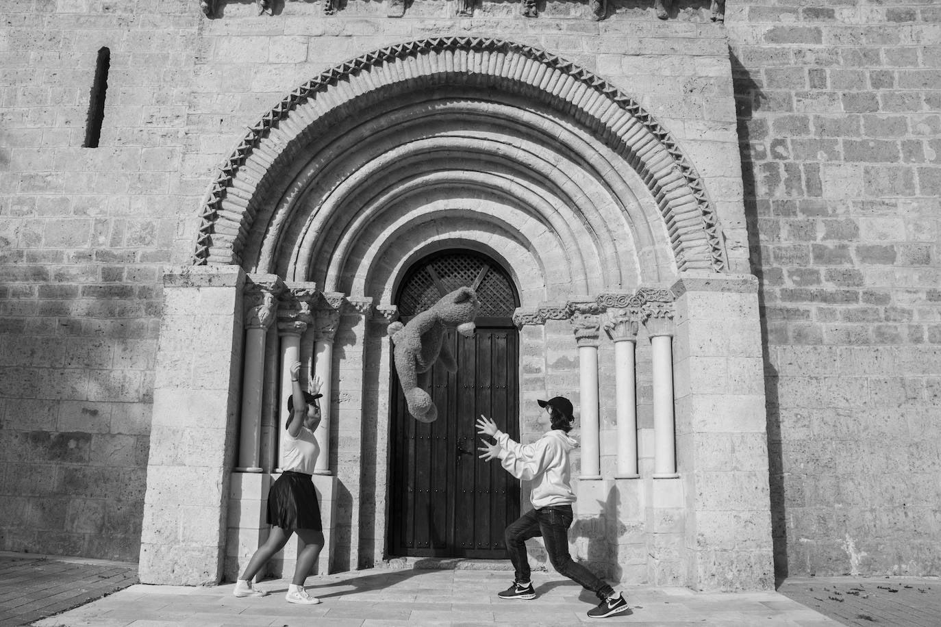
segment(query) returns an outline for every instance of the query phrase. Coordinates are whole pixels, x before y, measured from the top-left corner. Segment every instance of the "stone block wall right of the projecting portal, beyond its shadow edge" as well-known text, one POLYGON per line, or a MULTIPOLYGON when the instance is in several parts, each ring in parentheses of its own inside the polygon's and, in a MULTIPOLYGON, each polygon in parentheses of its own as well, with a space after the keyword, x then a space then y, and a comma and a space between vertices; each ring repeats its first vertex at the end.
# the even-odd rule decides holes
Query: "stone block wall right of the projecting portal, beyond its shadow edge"
POLYGON ((941 7, 729 2, 775 562, 941 564, 941 7))

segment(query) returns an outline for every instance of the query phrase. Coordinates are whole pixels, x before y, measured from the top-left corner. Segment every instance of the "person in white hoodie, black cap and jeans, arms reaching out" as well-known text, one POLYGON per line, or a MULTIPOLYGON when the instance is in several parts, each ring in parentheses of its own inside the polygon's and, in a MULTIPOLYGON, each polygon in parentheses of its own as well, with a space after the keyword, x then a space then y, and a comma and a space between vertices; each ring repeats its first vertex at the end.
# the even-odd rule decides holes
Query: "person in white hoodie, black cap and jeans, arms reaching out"
POLYGON ((600 599, 598 607, 588 611, 590 618, 603 619, 623 614, 630 609, 624 597, 615 595, 614 588, 568 554, 568 527, 572 525, 572 503, 575 502, 568 452, 579 446, 577 440, 566 435, 571 431, 574 421, 572 403, 565 397, 538 402, 549 415, 551 430, 530 445, 514 442, 485 415, 477 420, 477 431, 497 441, 489 444, 481 438, 484 447, 479 450, 484 451, 484 454, 480 459, 489 462, 498 458, 511 475, 534 482, 531 496, 534 509, 506 527, 506 550, 516 570, 516 578, 513 585, 498 596, 501 599, 535 598, 525 541, 542 536, 552 567, 583 588, 593 591, 600 599))

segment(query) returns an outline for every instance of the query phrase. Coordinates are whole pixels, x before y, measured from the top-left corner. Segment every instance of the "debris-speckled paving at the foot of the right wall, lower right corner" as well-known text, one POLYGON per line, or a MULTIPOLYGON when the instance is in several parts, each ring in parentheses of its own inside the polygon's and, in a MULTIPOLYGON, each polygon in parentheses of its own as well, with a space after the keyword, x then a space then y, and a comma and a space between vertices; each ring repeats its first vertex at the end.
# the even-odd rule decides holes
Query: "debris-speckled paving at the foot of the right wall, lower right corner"
POLYGON ((790 577, 778 592, 844 625, 941 625, 937 578, 790 577))

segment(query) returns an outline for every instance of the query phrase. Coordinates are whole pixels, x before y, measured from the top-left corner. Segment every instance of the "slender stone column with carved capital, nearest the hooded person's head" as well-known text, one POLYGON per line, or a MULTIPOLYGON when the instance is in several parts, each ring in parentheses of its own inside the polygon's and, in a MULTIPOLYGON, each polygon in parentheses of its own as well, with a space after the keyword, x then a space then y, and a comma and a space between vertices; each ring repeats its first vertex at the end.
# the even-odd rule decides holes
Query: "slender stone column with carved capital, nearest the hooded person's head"
POLYGON ((581 307, 571 317, 579 347, 579 389, 582 410, 582 475, 580 479, 601 478, 598 442, 598 335, 601 328, 597 309, 581 307))

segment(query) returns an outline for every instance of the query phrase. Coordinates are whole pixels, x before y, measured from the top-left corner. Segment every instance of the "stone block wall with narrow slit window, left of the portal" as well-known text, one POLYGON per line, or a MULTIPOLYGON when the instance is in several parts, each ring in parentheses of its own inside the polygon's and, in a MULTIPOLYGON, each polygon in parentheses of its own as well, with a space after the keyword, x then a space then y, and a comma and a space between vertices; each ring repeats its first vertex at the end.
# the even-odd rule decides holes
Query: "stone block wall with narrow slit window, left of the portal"
MULTIPOLYGON (((0 549, 135 560, 196 18, 0 3, 0 549), (84 149, 98 51, 101 148, 84 149)), ((201 190, 200 190, 201 191, 201 190)))

